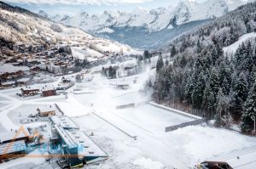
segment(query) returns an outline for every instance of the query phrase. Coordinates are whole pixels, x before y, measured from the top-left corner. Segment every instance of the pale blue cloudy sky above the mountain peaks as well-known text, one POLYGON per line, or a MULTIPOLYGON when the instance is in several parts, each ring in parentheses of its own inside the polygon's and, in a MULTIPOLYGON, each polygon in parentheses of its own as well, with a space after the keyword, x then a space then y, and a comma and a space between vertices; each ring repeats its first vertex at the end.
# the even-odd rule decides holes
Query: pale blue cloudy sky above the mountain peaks
MULTIPOLYGON (((48 14, 77 14, 85 11, 89 14, 100 14, 104 10, 132 11, 134 8, 158 8, 175 6, 180 0, 3 0, 38 13, 44 10, 48 14)), ((205 0, 190 0, 202 2, 205 0)))

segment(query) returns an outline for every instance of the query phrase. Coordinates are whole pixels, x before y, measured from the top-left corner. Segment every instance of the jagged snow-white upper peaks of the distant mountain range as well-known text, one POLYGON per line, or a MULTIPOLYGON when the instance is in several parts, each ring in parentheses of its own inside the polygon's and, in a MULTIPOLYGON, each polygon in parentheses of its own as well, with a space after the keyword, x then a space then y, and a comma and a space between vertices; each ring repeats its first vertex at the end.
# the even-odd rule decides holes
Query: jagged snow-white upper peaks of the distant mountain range
POLYGON ((103 14, 90 15, 86 12, 74 16, 56 15, 55 22, 74 25, 84 31, 109 32, 111 27, 136 26, 146 27, 148 31, 160 31, 195 20, 207 20, 227 14, 250 0, 207 0, 196 3, 192 0, 181 0, 176 7, 136 8, 131 13, 120 11, 105 11, 103 14), (106 29, 108 27, 108 29, 106 29))

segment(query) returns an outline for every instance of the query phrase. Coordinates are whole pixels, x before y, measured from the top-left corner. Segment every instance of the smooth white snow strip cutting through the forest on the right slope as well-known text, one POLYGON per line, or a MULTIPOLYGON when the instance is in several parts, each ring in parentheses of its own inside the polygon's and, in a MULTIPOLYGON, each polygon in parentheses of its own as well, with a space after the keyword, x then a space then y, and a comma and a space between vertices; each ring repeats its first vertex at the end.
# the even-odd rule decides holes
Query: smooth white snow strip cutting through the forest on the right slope
POLYGON ((256 37, 255 32, 247 33, 247 34, 242 35, 241 37, 239 37, 238 41, 234 42, 233 44, 231 44, 228 47, 224 47, 223 48, 224 53, 225 54, 235 54, 236 49, 239 47, 239 45, 241 45, 242 42, 251 41, 255 37, 256 37))

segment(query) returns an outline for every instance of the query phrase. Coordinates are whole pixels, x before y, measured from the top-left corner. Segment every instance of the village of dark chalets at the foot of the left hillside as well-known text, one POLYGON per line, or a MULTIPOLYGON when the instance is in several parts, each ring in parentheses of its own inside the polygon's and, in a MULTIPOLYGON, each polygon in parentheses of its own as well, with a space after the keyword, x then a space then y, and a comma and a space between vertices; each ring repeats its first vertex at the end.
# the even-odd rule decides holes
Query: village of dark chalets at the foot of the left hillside
POLYGON ((81 39, 44 45, 2 44, 0 87, 54 82, 55 76, 77 73, 111 60, 135 57, 134 54, 124 54, 122 50, 108 50, 107 47, 108 43, 96 38, 90 39, 90 42, 81 39))

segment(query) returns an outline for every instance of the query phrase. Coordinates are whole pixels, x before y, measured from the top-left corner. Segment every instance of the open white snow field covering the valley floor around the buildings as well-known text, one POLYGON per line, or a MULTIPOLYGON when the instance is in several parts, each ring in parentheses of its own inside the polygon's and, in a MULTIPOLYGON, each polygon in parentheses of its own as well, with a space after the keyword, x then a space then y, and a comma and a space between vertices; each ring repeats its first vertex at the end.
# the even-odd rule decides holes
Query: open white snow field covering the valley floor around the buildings
MULTIPOLYGON (((154 71, 148 70, 137 76, 117 80, 108 80, 100 74, 94 74, 91 82, 76 83, 74 87, 69 88, 67 98, 59 95, 18 99, 15 93, 20 91, 20 88, 2 90, 0 132, 19 128, 20 120, 35 114, 40 106, 58 104, 66 115, 73 117, 81 130, 87 134, 94 132, 93 139, 96 144, 108 153, 107 161, 103 161, 99 166, 92 165, 91 168, 187 169, 211 159, 230 161, 239 169, 252 169, 251 166, 256 165, 256 138, 206 124, 164 132, 165 127, 193 119, 144 103, 150 100, 150 93, 143 95, 140 89, 148 76, 153 74, 154 71), (136 83, 134 79, 137 79, 136 83), (129 84, 130 87, 123 90, 113 86, 119 83, 129 84), (73 89, 76 88, 94 93, 75 94, 73 89), (139 105, 123 110, 116 109, 118 105, 131 103, 139 105), (241 159, 237 160, 236 156, 241 159), (242 165, 248 161, 249 166, 242 165)), ((42 122, 38 121, 25 126, 40 125, 42 122)), ((20 158, 0 164, 0 168, 17 168, 17 165, 20 169, 34 166, 40 168, 46 167, 46 164, 44 159, 20 158)))

